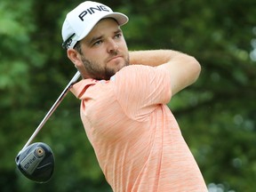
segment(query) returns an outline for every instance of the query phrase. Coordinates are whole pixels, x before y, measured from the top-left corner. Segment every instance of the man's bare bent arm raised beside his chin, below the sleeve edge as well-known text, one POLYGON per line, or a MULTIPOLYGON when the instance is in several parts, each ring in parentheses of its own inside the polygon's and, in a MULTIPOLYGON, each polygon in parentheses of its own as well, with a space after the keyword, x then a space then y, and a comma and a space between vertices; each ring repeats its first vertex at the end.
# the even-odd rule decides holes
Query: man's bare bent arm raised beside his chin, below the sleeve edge
POLYGON ((172 95, 196 82, 201 66, 188 54, 172 50, 134 51, 130 63, 163 68, 171 77, 172 95))

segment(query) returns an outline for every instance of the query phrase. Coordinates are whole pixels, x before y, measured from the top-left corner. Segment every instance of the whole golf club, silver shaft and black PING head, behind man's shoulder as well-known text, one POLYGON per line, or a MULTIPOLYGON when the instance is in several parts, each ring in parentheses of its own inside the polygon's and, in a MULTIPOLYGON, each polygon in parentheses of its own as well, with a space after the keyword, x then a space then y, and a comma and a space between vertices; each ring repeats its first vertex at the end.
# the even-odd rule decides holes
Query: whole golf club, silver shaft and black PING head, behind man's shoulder
POLYGON ((76 75, 73 76, 66 88, 61 92, 59 98, 52 105, 52 108, 50 108, 42 122, 37 126, 36 131, 31 135, 28 142, 15 158, 16 165, 20 172, 22 172, 29 180, 42 183, 50 180, 52 177, 52 172, 54 170, 54 156, 52 149, 43 142, 29 144, 35 139, 37 133, 40 132, 46 121, 52 116, 52 113, 67 95, 71 86, 76 83, 80 76, 80 72, 77 71, 76 75))

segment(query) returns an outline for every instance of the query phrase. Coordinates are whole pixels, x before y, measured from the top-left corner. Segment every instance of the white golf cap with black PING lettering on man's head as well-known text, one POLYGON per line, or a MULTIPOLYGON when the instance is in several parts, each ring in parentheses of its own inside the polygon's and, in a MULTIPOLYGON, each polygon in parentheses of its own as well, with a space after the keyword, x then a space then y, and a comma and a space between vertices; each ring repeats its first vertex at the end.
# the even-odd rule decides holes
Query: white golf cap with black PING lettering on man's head
POLYGON ((121 12, 113 12, 107 5, 85 1, 68 12, 62 26, 63 48, 73 48, 77 41, 87 36, 92 28, 103 18, 113 18, 119 26, 128 22, 128 17, 121 12))

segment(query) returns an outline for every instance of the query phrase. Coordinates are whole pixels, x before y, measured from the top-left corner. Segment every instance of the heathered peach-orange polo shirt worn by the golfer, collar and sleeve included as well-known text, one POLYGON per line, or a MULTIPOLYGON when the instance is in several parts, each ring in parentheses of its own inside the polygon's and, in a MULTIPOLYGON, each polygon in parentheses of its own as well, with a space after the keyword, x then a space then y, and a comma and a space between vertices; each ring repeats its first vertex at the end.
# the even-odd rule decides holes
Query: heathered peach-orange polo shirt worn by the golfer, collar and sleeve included
POLYGON ((84 79, 71 91, 106 180, 115 192, 204 192, 202 174, 166 104, 170 77, 131 65, 109 81, 84 79))

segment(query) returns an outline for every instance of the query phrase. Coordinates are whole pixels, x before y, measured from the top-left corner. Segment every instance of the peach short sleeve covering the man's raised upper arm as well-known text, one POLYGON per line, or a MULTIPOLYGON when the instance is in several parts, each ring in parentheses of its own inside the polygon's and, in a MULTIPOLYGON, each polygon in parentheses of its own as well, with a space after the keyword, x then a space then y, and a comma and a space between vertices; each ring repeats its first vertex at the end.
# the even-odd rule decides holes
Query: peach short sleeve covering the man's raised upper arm
POLYGON ((131 65, 122 68, 111 81, 124 113, 134 119, 147 118, 172 97, 170 76, 162 68, 131 65))

